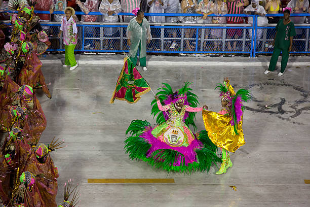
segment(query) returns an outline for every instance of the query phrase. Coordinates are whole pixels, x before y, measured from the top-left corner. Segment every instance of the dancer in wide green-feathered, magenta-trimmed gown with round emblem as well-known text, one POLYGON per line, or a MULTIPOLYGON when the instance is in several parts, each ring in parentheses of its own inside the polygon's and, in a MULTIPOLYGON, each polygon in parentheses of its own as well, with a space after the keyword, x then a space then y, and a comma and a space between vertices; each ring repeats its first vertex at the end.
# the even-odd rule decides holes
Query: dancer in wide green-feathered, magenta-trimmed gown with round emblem
POLYGON ((133 120, 126 131, 125 150, 130 159, 142 159, 149 165, 169 171, 209 171, 212 162, 220 162, 217 147, 209 140, 207 131, 192 133, 198 108, 197 95, 190 92, 189 83, 173 92, 171 86, 160 88, 151 103, 151 114, 157 116, 157 126, 133 120), (164 106, 163 106, 164 104, 164 106))

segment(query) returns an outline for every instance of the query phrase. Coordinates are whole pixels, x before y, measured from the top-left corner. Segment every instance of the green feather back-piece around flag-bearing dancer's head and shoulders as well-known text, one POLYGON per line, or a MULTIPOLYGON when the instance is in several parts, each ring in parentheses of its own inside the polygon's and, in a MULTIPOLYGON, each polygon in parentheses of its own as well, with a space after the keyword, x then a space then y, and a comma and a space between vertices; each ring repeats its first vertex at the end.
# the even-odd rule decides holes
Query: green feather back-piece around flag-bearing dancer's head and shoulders
MULTIPOLYGON (((173 100, 172 96, 174 95, 174 92, 168 83, 163 84, 165 87, 159 88, 158 89, 159 92, 156 95, 159 97, 162 105, 164 106, 165 101, 166 102, 168 101, 166 104, 169 104, 170 103, 169 100, 173 100)), ((190 107, 197 107, 199 105, 198 96, 195 93, 190 92, 190 90, 192 90, 191 88, 188 87, 190 84, 191 83, 189 82, 185 82, 184 86, 177 92, 177 95, 181 94, 184 96, 186 95, 184 105, 187 104, 190 107)), ((162 112, 159 110, 156 99, 152 100, 151 106, 152 106, 151 115, 153 115, 153 117, 157 116, 156 117, 157 124, 161 124, 168 119, 166 112, 162 112)), ((196 112, 186 112, 184 119, 185 119, 184 122, 187 126, 191 125, 194 130, 197 130, 197 126, 195 124, 196 112)))

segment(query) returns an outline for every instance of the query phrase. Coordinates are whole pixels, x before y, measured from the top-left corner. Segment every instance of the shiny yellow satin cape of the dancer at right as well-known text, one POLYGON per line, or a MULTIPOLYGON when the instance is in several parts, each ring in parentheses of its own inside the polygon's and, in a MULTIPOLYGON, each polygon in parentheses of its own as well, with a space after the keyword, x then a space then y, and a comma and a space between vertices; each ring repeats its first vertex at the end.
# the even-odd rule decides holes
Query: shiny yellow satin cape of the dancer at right
POLYGON ((241 121, 238 123, 239 134, 236 134, 234 131, 234 126, 230 125, 230 116, 225 116, 206 110, 203 110, 202 114, 209 139, 214 145, 224 148, 229 152, 235 152, 239 147, 245 144, 242 130, 243 116, 241 117, 241 121))

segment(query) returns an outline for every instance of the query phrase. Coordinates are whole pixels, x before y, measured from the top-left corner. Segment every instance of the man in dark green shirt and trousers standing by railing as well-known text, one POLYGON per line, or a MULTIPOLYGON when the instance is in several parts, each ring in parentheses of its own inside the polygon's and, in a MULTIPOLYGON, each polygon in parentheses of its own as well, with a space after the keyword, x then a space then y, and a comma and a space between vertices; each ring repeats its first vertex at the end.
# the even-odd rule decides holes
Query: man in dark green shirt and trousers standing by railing
POLYGON ((296 35, 294 23, 290 20, 290 14, 290 10, 286 9, 283 12, 284 19, 281 19, 276 26, 277 31, 273 42, 275 48, 273 56, 270 59, 269 68, 264 72, 264 74, 275 71, 275 67, 281 51, 281 71, 278 76, 282 76, 284 74, 284 70, 289 57, 289 52, 292 50, 293 36, 296 35))

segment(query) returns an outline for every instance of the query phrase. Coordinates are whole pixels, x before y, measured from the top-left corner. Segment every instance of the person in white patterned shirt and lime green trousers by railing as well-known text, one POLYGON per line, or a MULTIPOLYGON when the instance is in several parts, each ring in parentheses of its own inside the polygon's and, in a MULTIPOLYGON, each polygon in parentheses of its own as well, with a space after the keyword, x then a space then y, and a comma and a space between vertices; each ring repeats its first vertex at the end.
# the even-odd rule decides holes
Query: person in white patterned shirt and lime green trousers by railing
POLYGON ((70 71, 78 67, 78 63, 75 61, 74 48, 78 39, 76 34, 78 33, 78 28, 76 28, 76 23, 72 16, 74 16, 75 11, 72 7, 67 7, 65 9, 66 16, 62 18, 60 31, 58 37, 61 37, 61 32, 63 31, 63 44, 65 45, 65 62, 62 66, 71 66, 70 71))

